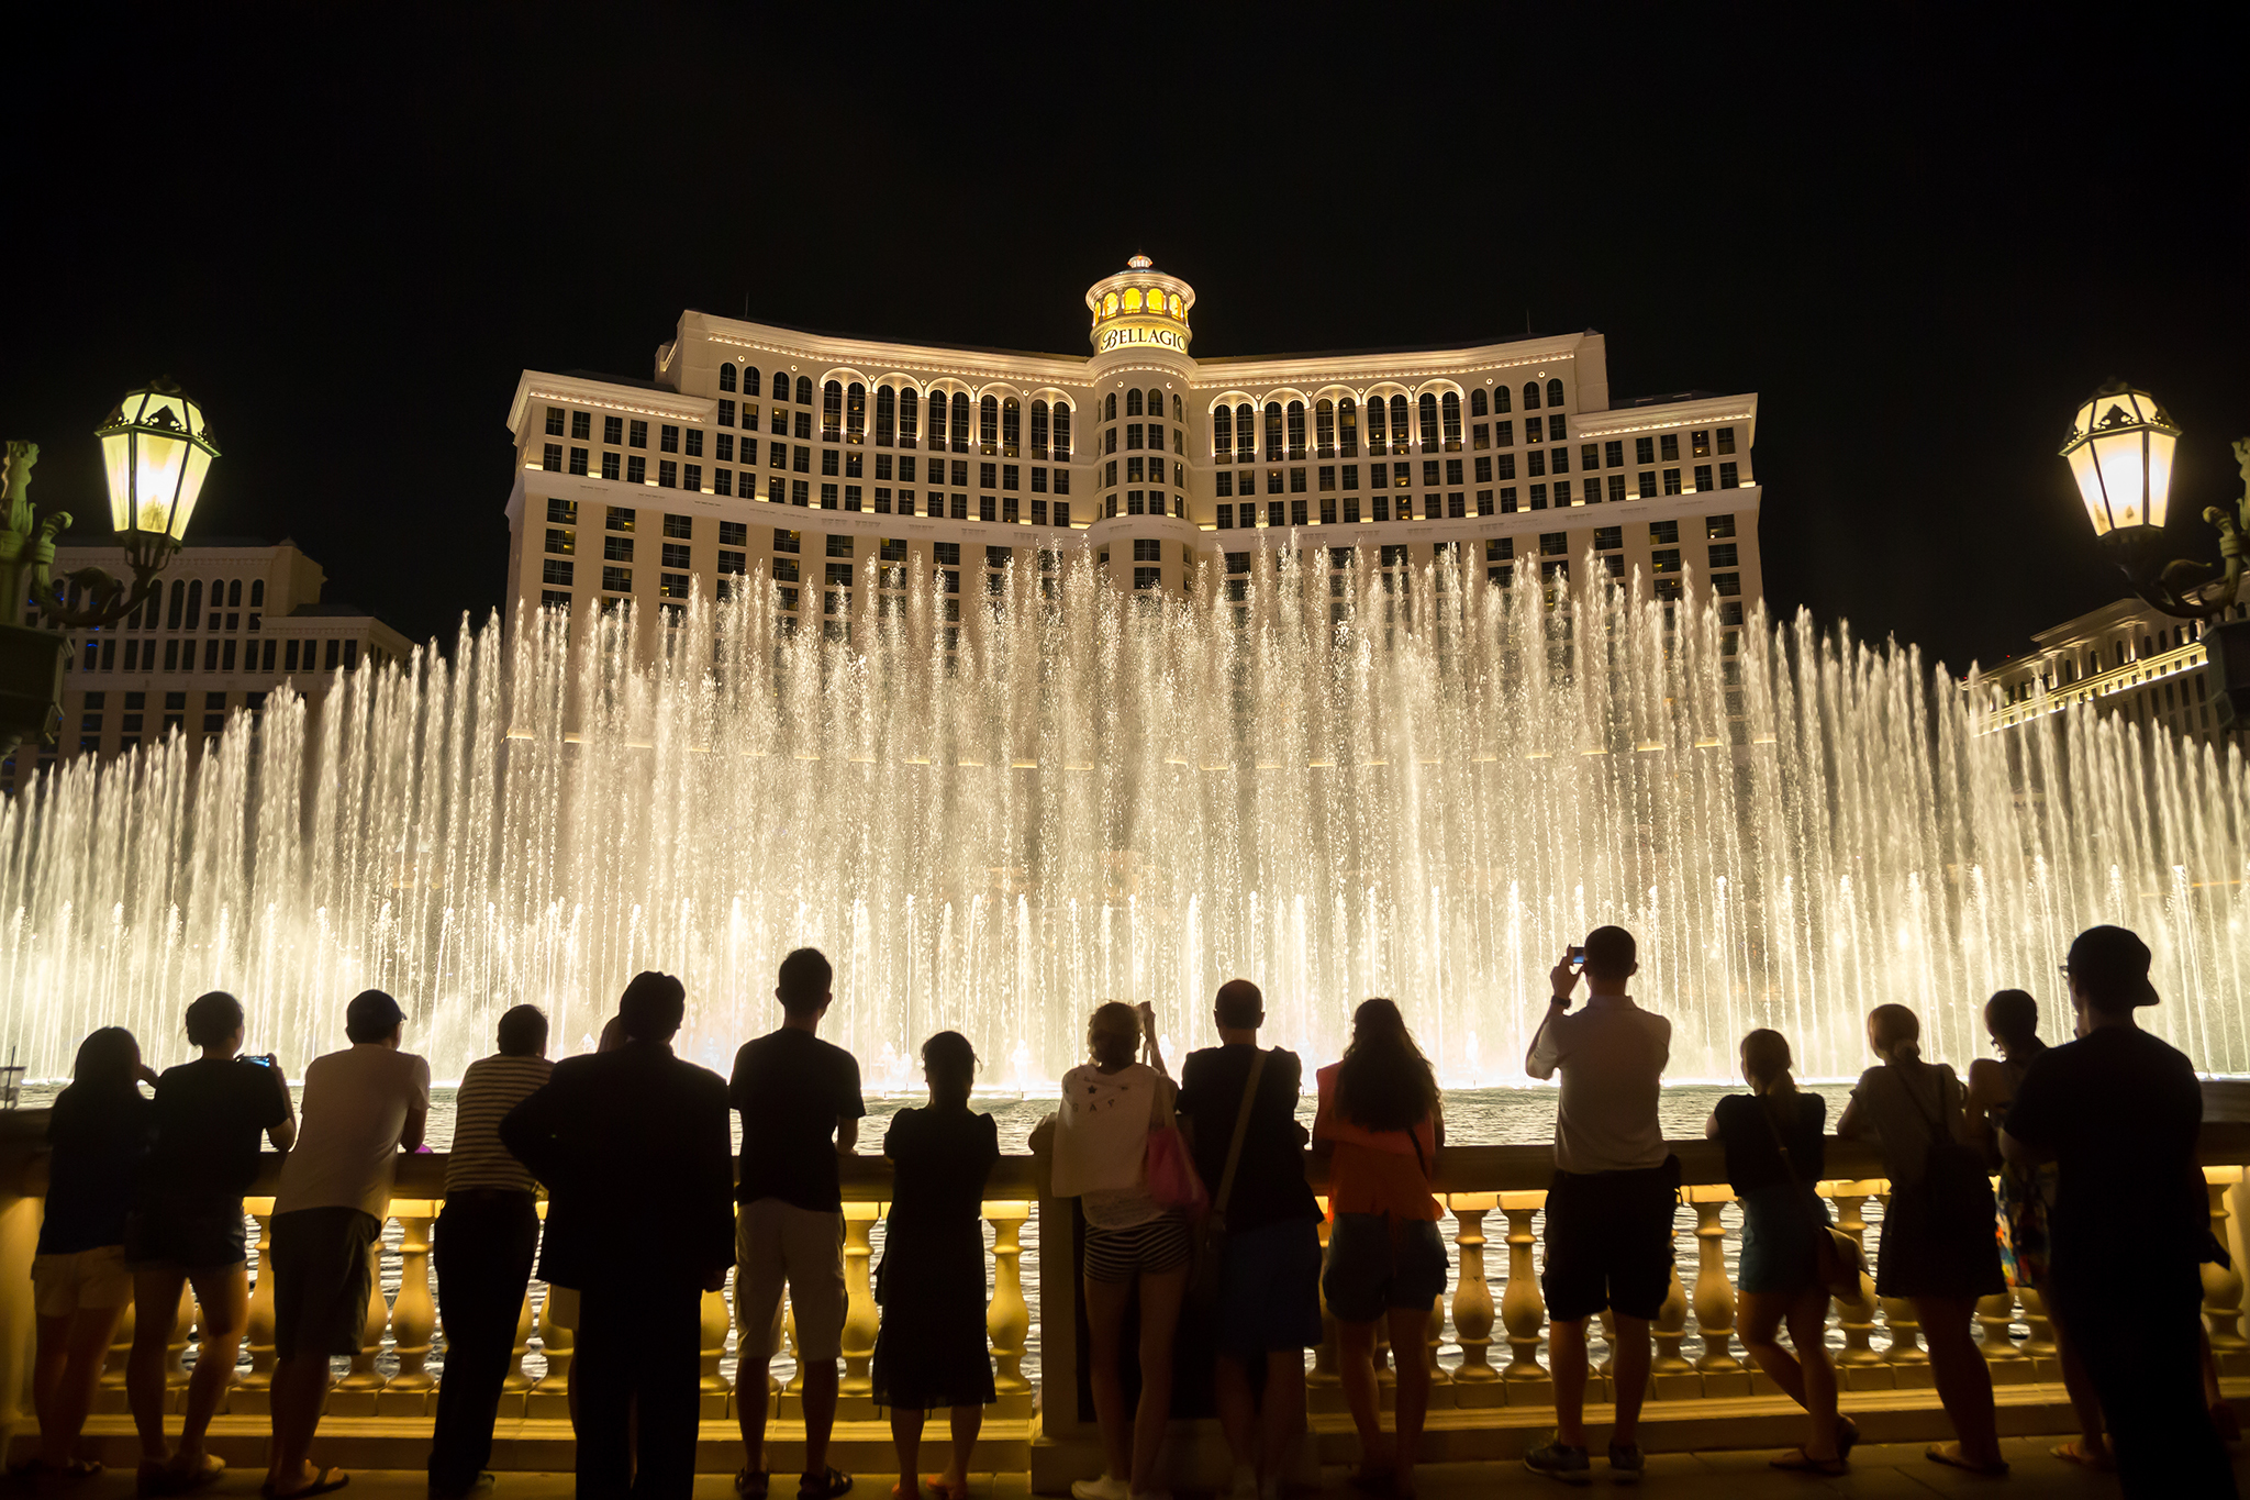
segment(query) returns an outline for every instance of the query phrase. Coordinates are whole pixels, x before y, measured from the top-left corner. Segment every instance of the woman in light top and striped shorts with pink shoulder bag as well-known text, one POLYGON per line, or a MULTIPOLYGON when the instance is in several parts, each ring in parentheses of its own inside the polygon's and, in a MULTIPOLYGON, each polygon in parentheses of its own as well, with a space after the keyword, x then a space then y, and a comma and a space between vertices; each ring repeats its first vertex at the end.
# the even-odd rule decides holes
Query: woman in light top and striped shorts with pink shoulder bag
POLYGON ((1087 1021, 1089 1061, 1062 1075, 1055 1113, 1055 1196, 1087 1217, 1087 1363, 1105 1469, 1078 1480, 1078 1500, 1130 1500, 1161 1491, 1156 1457, 1172 1417, 1172 1331, 1195 1246, 1188 1221, 1150 1194, 1152 1131, 1177 1129, 1177 1088, 1156 1050, 1156 1012, 1123 1001, 1087 1021), (1150 1061, 1136 1061, 1148 1050, 1150 1061), (1125 1307, 1141 1293, 1141 1406, 1125 1419, 1125 1307))

